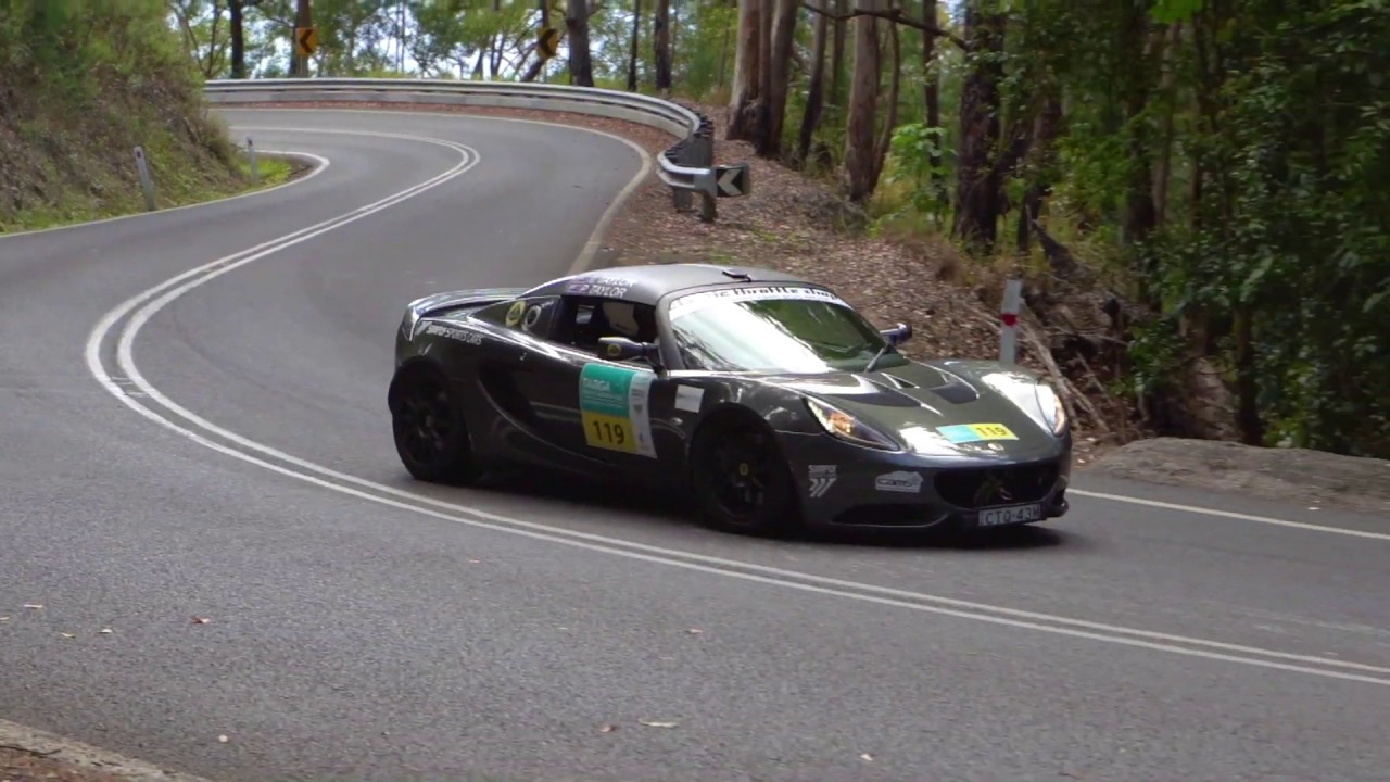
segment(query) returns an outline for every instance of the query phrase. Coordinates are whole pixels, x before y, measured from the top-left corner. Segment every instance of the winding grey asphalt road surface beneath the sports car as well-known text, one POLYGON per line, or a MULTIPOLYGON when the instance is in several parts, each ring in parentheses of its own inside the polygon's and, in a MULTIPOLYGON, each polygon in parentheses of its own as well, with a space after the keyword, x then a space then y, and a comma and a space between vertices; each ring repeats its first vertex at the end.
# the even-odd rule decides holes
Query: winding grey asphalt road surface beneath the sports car
POLYGON ((413 484, 400 308, 567 271, 641 159, 228 114, 331 164, 0 238, 0 717, 247 781, 1386 779, 1387 519, 1081 477, 1264 520, 1077 495, 988 545, 778 543, 600 490, 413 484))

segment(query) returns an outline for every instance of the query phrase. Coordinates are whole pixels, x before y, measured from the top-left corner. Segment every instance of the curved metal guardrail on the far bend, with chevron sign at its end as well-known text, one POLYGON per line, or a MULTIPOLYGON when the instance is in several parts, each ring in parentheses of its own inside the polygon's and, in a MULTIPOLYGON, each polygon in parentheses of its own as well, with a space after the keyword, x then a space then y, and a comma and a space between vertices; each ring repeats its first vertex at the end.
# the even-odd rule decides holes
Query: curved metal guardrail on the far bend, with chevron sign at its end
POLYGON ((570 111, 610 120, 626 120, 664 131, 677 141, 657 156, 657 175, 671 188, 678 212, 699 196, 699 217, 712 223, 716 200, 739 198, 752 191, 748 163, 714 166, 714 124, 684 106, 613 89, 584 86, 481 82, 449 79, 211 79, 206 82, 208 103, 435 103, 570 111))

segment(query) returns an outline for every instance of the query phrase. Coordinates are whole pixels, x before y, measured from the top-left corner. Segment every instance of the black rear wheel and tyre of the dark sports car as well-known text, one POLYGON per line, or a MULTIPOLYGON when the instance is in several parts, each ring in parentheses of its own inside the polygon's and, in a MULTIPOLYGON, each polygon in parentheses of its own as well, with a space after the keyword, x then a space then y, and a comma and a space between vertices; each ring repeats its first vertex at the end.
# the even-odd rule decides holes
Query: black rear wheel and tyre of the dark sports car
POLYGON ((467 486, 481 477, 463 410, 434 369, 417 366, 396 378, 391 430, 400 462, 417 480, 467 486))

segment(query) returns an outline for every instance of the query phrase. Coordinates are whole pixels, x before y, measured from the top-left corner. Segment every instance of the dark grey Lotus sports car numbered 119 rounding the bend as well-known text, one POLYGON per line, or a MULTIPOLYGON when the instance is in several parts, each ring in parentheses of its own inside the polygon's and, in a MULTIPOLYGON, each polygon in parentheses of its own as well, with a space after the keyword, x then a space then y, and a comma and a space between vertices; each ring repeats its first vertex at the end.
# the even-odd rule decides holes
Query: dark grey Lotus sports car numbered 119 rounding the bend
POLYGON ((778 271, 603 269, 411 302, 388 405, 420 480, 524 465, 666 484, 724 530, 1065 513, 1054 390, 994 362, 909 360, 910 335, 778 271))

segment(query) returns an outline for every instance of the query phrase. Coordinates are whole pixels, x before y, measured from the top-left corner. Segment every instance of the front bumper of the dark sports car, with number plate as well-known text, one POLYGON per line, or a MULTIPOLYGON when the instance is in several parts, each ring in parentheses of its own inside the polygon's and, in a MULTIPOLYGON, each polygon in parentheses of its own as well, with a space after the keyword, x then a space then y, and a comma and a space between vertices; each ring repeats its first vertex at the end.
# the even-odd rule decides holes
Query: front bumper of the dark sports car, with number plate
POLYGON ((802 518, 810 527, 980 529, 1068 512, 1070 438, 1011 459, 937 459, 783 433, 802 518))

